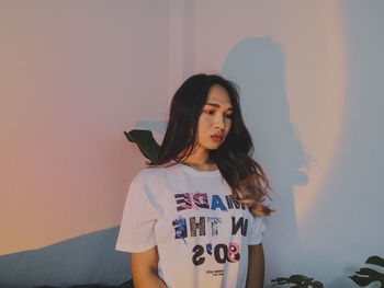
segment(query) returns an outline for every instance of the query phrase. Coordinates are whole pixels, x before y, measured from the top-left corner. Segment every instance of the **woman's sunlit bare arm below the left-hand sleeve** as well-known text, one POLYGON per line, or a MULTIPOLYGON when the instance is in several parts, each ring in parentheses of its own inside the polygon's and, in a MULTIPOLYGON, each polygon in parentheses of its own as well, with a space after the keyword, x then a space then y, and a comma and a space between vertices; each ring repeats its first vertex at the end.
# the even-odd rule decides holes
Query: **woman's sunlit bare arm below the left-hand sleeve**
POLYGON ((131 253, 131 268, 135 288, 167 288, 157 270, 157 246, 140 253, 131 253))

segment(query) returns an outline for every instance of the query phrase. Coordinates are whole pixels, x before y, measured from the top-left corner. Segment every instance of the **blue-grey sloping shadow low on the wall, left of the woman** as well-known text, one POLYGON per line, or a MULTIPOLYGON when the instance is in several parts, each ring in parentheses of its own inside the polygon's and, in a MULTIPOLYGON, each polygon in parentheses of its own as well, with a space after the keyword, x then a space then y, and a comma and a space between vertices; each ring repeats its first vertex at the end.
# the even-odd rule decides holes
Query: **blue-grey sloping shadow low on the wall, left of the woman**
POLYGON ((118 227, 43 249, 0 256, 0 287, 120 285, 132 278, 129 254, 116 252, 118 227))

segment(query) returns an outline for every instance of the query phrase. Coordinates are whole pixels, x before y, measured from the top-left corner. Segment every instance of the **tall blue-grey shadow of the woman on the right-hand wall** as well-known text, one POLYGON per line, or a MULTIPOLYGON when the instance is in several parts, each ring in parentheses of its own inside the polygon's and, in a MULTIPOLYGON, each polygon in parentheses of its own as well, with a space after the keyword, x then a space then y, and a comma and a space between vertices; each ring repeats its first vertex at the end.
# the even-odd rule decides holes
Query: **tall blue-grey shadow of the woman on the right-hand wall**
MULTIPOLYGON (((294 185, 306 185, 305 153, 290 122, 285 96, 284 58, 270 38, 246 38, 229 51, 222 74, 239 85, 244 118, 255 145, 253 158, 264 169, 279 199, 276 211, 267 218, 264 250, 268 257, 266 284, 271 277, 297 273, 302 261, 292 255, 301 249, 297 235, 294 185)), ((273 196, 273 195, 272 195, 273 196)), ((275 197, 273 197, 275 198, 275 197)))

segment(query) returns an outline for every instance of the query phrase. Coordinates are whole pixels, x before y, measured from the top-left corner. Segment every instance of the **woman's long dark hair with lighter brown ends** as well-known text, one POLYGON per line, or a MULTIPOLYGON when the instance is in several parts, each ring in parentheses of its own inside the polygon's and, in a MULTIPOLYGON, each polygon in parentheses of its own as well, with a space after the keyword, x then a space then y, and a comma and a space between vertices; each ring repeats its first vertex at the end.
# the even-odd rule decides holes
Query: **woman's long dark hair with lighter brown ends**
POLYGON ((272 212, 262 205, 271 189, 262 168, 251 158, 252 139, 244 124, 236 84, 217 74, 195 74, 176 92, 167 131, 158 158, 149 163, 158 166, 185 160, 195 147, 197 122, 212 85, 219 84, 228 92, 231 106, 231 127, 225 141, 216 150, 210 151, 221 174, 231 187, 234 198, 246 205, 253 215, 267 216, 272 212))

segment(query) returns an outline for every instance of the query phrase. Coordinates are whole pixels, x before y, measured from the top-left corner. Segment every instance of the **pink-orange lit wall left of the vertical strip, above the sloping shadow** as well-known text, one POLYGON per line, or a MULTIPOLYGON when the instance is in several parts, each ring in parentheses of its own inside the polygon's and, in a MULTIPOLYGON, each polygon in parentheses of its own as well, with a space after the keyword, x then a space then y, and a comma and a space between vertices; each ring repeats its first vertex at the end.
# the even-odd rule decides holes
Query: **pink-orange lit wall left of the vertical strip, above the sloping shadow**
POLYGON ((167 2, 5 1, 0 35, 0 255, 118 226, 123 130, 166 116, 167 2))

